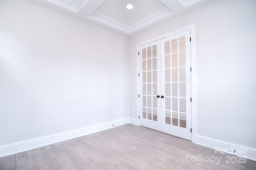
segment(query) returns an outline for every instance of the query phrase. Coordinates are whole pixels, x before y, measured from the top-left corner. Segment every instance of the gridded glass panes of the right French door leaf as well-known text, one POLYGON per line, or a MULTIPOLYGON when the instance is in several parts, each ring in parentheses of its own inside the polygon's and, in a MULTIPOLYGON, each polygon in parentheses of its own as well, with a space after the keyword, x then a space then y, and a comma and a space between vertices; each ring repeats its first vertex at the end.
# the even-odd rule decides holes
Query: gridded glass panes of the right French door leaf
POLYGON ((179 37, 164 44, 165 123, 186 128, 186 39, 179 37))

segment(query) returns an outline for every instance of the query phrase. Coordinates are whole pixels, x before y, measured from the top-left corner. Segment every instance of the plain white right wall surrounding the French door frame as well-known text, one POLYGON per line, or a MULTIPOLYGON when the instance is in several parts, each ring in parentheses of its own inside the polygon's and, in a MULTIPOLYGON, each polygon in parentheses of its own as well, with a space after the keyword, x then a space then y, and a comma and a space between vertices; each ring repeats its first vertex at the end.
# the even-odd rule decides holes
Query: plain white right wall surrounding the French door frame
POLYGON ((195 24, 196 135, 255 149, 255 13, 256 1, 214 1, 132 36, 130 117, 136 117, 136 44, 195 24))

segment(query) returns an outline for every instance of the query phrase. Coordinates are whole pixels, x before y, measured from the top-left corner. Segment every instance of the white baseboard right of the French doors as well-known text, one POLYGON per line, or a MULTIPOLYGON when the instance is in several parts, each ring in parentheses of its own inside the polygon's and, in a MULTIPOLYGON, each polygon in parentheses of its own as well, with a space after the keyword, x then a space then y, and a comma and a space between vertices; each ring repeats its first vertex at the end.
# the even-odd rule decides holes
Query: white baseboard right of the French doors
POLYGON ((250 160, 256 160, 256 149, 245 147, 242 145, 236 145, 234 143, 228 143, 225 141, 220 141, 217 139, 212 139, 209 137, 204 137, 201 135, 196 135, 196 144, 202 145, 205 147, 209 147, 215 150, 219 150, 222 152, 234 154, 236 156, 241 156, 244 158, 248 158, 250 160), (234 152, 234 150, 236 150, 234 152))

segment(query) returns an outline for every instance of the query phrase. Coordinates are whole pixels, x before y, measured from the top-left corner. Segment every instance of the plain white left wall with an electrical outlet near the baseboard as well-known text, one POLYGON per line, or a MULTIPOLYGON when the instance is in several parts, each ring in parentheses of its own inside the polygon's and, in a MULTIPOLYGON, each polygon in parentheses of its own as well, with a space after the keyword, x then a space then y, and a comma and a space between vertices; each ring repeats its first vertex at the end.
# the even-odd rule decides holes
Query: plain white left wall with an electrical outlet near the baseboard
POLYGON ((0 145, 128 117, 128 46, 36 2, 1 0, 0 145))

